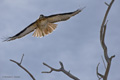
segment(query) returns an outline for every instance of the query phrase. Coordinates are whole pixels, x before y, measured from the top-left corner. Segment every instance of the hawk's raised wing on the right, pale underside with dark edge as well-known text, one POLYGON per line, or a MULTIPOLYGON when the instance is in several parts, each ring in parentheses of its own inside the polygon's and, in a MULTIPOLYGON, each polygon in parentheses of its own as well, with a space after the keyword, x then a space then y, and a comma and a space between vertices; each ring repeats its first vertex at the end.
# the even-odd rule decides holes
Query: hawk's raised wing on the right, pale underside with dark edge
POLYGON ((68 20, 70 17, 75 16, 79 12, 81 12, 83 9, 78 9, 74 12, 68 12, 68 13, 61 13, 61 14, 54 14, 50 16, 46 16, 48 22, 55 23, 59 21, 65 21, 68 20))

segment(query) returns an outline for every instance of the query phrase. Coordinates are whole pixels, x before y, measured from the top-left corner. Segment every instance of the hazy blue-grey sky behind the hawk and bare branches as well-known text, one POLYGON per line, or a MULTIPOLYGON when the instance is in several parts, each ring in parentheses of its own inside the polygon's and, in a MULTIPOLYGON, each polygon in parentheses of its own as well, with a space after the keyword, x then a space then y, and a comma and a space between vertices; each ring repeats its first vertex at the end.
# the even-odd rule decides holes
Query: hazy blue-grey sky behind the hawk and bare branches
MULTIPOLYGON (((57 23, 56 30, 43 38, 32 37, 33 33, 10 42, 0 40, 0 80, 32 80, 29 75, 9 61, 20 61, 36 80, 70 80, 61 72, 42 74, 49 69, 42 63, 59 68, 62 61, 66 70, 81 80, 97 80, 96 66, 104 73, 101 59, 100 26, 107 9, 104 2, 111 0, 0 0, 0 38, 13 36, 40 14, 46 16, 75 11, 86 7, 68 21, 57 23), (20 76, 20 78, 4 78, 20 76)), ((110 13, 105 42, 109 56, 116 55, 108 80, 120 80, 120 0, 115 0, 110 13)))

